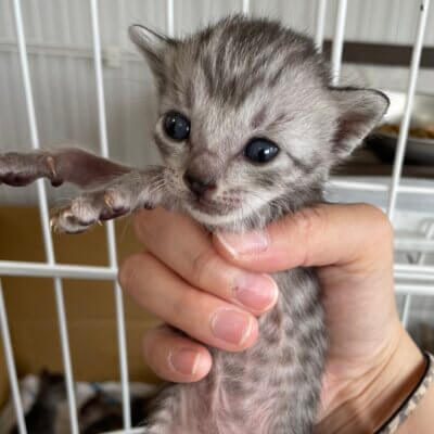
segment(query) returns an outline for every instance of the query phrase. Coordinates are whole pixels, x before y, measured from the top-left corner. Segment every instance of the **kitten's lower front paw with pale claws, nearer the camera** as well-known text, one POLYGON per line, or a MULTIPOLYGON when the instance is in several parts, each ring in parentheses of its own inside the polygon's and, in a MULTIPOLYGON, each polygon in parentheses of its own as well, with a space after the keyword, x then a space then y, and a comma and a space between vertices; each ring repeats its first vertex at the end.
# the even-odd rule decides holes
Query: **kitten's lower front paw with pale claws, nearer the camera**
POLYGON ((68 205, 54 210, 50 220, 55 232, 80 233, 101 220, 110 220, 128 214, 131 197, 128 191, 107 188, 84 193, 68 205))

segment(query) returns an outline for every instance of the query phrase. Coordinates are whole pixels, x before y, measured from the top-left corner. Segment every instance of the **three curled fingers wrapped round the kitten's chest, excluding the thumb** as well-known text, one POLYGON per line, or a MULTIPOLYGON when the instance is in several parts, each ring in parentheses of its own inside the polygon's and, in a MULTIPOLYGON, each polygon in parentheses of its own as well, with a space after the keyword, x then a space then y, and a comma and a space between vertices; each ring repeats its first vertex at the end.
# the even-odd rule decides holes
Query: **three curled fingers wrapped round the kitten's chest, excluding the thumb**
POLYGON ((267 275, 226 261, 212 235, 183 214, 140 210, 135 226, 145 251, 123 264, 122 286, 149 311, 188 334, 167 327, 151 330, 144 357, 166 380, 197 381, 212 366, 203 344, 229 352, 251 346, 257 337, 256 317, 275 305, 277 285, 267 275))

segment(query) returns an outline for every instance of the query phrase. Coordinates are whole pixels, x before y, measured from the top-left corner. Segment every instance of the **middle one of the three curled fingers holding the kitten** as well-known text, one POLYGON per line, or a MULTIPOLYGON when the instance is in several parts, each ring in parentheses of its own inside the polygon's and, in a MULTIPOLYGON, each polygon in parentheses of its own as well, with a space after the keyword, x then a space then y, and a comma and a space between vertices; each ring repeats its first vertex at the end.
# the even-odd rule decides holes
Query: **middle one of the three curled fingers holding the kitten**
POLYGON ((197 341, 238 352, 257 337, 252 314, 197 291, 149 253, 128 258, 119 281, 139 304, 197 341))

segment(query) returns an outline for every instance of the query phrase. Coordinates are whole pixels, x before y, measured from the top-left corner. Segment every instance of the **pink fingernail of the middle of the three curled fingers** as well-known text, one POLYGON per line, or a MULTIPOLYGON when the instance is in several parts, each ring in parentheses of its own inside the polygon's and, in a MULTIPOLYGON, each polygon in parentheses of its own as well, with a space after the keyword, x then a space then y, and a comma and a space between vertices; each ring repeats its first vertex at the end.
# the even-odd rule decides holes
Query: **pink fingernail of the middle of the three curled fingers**
POLYGON ((252 331, 252 318, 237 310, 222 309, 214 315, 212 330, 219 340, 241 345, 252 331))

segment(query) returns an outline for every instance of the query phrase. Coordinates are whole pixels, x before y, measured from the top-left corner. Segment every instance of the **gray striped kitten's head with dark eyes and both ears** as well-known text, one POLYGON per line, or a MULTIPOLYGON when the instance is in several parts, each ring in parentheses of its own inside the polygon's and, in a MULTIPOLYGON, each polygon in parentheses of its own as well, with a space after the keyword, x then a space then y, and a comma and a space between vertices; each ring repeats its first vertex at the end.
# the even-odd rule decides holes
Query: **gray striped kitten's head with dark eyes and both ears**
POLYGON ((181 40, 130 27, 159 94, 168 188, 208 226, 264 225, 318 201, 330 168, 381 119, 386 97, 331 88, 309 39, 233 16, 181 40))

